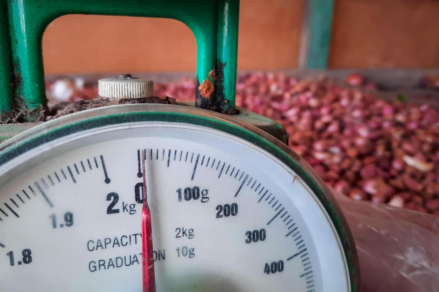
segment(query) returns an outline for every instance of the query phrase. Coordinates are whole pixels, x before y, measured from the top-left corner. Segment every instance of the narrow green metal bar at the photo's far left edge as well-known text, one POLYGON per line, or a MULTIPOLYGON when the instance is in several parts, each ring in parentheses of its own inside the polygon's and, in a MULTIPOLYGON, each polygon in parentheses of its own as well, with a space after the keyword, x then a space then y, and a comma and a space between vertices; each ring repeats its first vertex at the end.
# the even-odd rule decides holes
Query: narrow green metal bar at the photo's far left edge
POLYGON ((7 22, 7 2, 0 0, 0 112, 11 111, 11 42, 7 22))

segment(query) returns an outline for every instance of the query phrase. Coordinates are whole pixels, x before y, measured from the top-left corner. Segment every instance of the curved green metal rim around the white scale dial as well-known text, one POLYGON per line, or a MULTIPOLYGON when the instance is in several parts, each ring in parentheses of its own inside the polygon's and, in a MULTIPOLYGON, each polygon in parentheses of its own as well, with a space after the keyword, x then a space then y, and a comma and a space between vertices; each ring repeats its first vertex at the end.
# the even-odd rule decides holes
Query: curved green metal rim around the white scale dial
MULTIPOLYGON (((119 106, 122 107, 122 106, 119 106)), ((168 106, 173 107, 173 106, 168 106)), ((202 113, 201 113, 202 114, 202 113)), ((200 125, 217 129, 226 132, 230 135, 237 136, 244 139, 259 148, 271 153, 277 159, 290 167, 302 180, 309 186, 309 188, 316 194, 317 198, 322 203, 327 214, 331 218, 332 223, 341 240, 343 250, 346 256, 346 261, 349 269, 349 277, 351 282, 351 291, 356 292, 360 287, 360 269, 358 258, 356 255, 355 244, 350 234, 348 224, 342 214, 340 207, 332 195, 331 190, 325 185, 323 180, 317 175, 305 160, 292 151, 288 146, 281 143, 273 143, 273 137, 263 132, 258 128, 248 128, 246 123, 235 120, 234 123, 221 120, 218 117, 206 117, 198 114, 185 114, 173 111, 134 111, 130 113, 108 114, 98 116, 95 118, 88 118, 71 124, 65 124, 58 128, 49 129, 48 131, 40 131, 36 136, 18 142, 8 147, 6 150, 0 152, 0 165, 10 161, 11 159, 26 153, 44 143, 54 141, 62 136, 71 135, 73 133, 107 126, 107 125, 121 125, 131 122, 142 121, 164 121, 174 123, 187 123, 192 125, 200 125), (251 131, 249 130, 251 129, 251 131)), ((65 118, 68 118, 66 116, 65 118)), ((231 120, 233 118, 229 118, 231 120)), ((24 134, 24 133, 23 133, 24 134)), ((17 137, 18 138, 18 137, 17 137)))

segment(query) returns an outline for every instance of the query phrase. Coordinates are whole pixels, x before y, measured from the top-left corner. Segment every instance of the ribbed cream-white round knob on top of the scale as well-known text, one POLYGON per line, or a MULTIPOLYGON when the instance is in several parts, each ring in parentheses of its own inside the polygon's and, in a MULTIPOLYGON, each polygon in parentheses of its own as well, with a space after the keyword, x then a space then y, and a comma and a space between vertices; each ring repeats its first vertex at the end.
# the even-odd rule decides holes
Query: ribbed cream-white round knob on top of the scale
POLYGON ((119 77, 104 78, 98 82, 98 94, 108 98, 131 99, 154 95, 153 82, 122 74, 119 77))

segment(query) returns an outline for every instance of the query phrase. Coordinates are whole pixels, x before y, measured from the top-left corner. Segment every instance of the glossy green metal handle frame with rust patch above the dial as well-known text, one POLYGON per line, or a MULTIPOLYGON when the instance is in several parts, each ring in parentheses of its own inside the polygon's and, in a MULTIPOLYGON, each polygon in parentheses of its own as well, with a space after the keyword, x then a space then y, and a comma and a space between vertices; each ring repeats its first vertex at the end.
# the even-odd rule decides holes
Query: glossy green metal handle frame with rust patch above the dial
POLYGON ((239 0, 0 0, 0 111, 40 116, 47 99, 41 41, 66 14, 124 15, 182 21, 197 41, 196 105, 235 113, 239 0))

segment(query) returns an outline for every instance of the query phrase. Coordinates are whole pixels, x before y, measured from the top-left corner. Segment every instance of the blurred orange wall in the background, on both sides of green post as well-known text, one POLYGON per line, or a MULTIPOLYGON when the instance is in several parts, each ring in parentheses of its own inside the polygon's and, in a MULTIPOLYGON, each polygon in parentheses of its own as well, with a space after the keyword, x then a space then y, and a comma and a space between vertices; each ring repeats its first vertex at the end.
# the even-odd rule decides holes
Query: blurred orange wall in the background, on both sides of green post
MULTIPOLYGON (((241 0, 238 69, 297 67, 304 0, 241 0)), ((439 67, 439 1, 335 0, 330 68, 439 67)), ((169 19, 66 15, 43 36, 46 73, 194 71, 196 44, 169 19)))

